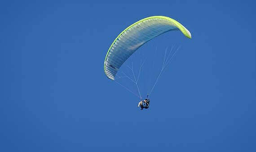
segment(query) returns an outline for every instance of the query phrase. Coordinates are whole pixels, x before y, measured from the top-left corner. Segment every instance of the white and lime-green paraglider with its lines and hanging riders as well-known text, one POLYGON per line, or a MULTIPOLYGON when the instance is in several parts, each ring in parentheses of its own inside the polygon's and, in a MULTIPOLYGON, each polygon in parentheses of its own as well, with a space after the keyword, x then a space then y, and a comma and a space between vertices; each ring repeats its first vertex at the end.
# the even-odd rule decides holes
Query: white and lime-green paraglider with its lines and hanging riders
MULTIPOLYGON (((165 16, 146 17, 128 26, 117 36, 117 38, 115 38, 114 42, 112 42, 109 50, 107 51, 104 61, 104 72, 106 76, 111 80, 115 80, 115 76, 117 75, 117 72, 119 71, 123 63, 138 48, 163 33, 176 30, 180 30, 182 34, 184 34, 187 38, 191 38, 190 31, 187 30, 183 25, 181 25, 181 23, 170 17, 165 16)), ((144 62, 141 62, 141 66, 143 64, 144 62)), ((137 85, 137 92, 139 93, 139 97, 142 99, 138 86, 139 76, 140 75, 138 75, 137 78, 134 76, 132 82, 137 85)), ((158 79, 159 77, 157 78, 157 80, 158 79)), ((149 102, 147 103, 147 101, 141 101, 138 106, 142 106, 143 108, 147 109, 149 107, 149 102)))

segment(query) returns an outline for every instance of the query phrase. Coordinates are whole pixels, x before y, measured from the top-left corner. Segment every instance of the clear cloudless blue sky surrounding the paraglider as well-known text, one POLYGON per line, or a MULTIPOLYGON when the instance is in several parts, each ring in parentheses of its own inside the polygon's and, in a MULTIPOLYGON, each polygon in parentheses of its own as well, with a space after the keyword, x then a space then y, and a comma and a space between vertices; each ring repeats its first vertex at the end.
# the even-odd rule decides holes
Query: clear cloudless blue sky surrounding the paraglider
POLYGON ((0 151, 255 152, 255 6, 1 1, 0 151), (169 32, 140 48, 181 46, 150 109, 139 110, 103 63, 122 30, 154 15, 181 22, 192 39, 169 32))

